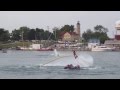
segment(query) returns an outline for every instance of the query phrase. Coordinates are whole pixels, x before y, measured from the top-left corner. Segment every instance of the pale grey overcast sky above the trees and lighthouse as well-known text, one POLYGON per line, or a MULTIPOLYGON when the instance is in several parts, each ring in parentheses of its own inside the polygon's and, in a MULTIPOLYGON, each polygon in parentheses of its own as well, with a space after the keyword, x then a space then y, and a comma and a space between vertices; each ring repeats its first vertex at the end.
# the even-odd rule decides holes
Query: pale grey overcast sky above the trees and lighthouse
POLYGON ((120 11, 0 11, 0 28, 9 30, 21 26, 42 28, 52 32, 54 27, 74 25, 80 21, 81 32, 96 25, 108 28, 108 36, 113 38, 116 32, 115 23, 120 20, 120 11))

